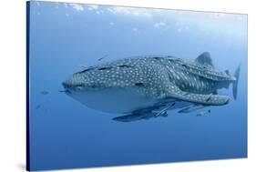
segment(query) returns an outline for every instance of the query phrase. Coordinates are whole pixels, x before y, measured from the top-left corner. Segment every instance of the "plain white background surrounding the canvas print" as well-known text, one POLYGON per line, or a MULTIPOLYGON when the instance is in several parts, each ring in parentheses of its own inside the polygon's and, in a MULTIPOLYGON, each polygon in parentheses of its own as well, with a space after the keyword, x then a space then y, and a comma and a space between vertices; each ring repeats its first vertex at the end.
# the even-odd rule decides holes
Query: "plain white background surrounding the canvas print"
MULTIPOLYGON (((149 172, 241 172, 256 170, 256 124, 254 124, 256 121, 256 114, 255 108, 253 108, 255 106, 254 97, 256 97, 254 89, 256 88, 256 5, 253 5, 253 1, 58 0, 58 2, 189 9, 200 11, 244 13, 249 15, 249 158, 127 167, 99 167, 89 169, 76 169, 75 171, 115 172, 138 170, 149 172)), ((26 1, 1 1, 0 19, 0 171, 24 171, 26 167, 26 1)), ((227 124, 227 126, 228 125, 229 124, 227 124)))

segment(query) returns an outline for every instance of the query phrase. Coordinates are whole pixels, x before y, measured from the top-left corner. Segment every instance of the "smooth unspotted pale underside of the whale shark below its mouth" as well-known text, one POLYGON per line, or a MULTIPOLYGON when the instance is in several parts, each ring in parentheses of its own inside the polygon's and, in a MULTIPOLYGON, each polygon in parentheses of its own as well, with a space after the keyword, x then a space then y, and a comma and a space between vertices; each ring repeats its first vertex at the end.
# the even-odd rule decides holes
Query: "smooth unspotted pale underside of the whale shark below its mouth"
POLYGON ((97 91, 67 93, 83 105, 107 113, 128 113, 152 106, 157 98, 141 94, 136 88, 105 88, 97 91))

